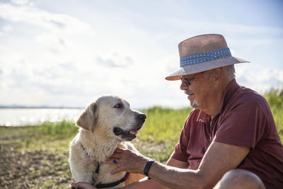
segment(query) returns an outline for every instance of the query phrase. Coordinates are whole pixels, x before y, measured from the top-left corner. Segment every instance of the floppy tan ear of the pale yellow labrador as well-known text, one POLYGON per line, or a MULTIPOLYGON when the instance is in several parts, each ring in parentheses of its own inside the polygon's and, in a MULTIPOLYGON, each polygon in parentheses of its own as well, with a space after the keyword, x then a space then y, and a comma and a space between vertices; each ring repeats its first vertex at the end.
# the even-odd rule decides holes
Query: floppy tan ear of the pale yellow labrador
POLYGON ((76 120, 76 125, 82 127, 85 130, 93 132, 97 120, 97 105, 96 103, 91 103, 88 105, 86 110, 81 113, 78 120, 76 120))

